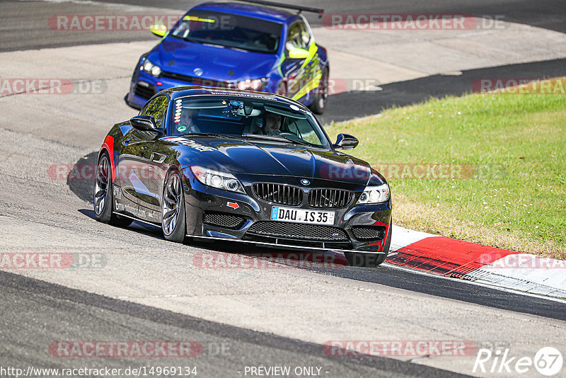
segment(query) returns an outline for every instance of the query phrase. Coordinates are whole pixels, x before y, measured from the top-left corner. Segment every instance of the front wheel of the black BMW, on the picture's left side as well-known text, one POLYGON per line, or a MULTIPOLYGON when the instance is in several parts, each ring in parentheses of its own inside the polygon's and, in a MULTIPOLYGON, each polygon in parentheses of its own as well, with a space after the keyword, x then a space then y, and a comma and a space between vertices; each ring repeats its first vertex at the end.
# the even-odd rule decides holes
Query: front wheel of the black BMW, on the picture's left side
POLYGON ((161 197, 161 229, 168 241, 183 243, 187 234, 183 182, 177 171, 169 171, 161 197))

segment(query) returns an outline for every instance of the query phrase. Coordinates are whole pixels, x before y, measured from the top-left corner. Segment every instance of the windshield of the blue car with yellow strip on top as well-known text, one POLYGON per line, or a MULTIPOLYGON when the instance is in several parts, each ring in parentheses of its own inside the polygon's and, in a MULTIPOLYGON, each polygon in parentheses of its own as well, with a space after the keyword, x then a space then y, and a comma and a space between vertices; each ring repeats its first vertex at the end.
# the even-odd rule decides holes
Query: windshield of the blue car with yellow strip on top
POLYGON ((282 25, 271 21, 214 11, 191 11, 171 35, 190 42, 275 54, 282 25))

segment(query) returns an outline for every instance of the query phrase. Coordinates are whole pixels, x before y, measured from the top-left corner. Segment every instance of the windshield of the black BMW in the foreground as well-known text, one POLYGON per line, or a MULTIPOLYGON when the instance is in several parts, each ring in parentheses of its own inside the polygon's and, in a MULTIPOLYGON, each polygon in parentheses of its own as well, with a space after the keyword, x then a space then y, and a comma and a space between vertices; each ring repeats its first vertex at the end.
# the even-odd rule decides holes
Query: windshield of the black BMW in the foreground
POLYGON ((173 105, 172 135, 215 134, 250 141, 329 148, 316 118, 297 105, 262 96, 188 96, 173 105))

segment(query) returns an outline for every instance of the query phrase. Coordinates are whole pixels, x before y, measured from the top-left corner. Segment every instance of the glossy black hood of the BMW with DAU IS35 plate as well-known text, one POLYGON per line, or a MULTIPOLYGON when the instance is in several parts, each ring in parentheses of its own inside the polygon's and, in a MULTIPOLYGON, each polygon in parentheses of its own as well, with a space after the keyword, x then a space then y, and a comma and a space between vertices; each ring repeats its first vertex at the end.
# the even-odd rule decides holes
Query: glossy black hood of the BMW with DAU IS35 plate
POLYGON ((183 137, 183 141, 197 144, 191 147, 184 142, 180 145, 178 160, 183 168, 200 165, 236 176, 238 173, 296 176, 355 185, 366 185, 371 176, 371 167, 366 161, 339 151, 299 144, 214 137, 183 137))

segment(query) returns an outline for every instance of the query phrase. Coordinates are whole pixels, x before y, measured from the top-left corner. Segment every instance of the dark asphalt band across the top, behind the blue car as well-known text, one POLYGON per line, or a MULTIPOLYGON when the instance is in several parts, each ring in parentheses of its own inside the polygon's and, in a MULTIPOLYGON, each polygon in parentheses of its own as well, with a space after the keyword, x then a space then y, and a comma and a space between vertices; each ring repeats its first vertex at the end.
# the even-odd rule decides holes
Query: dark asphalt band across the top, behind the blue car
MULTIPOLYGON (((4 0, 6 5, 12 2, 4 0)), ((127 4, 132 6, 158 6, 159 8, 173 13, 187 11, 191 6, 202 1, 180 1, 164 0, 158 4, 151 0, 100 0, 98 3, 127 4)), ((285 2, 285 1, 284 1, 285 2)), ((1 26, 3 40, 0 44, 0 51, 26 50, 41 47, 61 47, 92 43, 124 42, 135 40, 149 40, 153 38, 146 31, 142 32, 47 32, 45 25, 50 16, 54 14, 82 14, 79 1, 74 3, 46 4, 42 10, 33 8, 34 1, 26 1, 28 4, 18 5, 17 11, 3 11, 4 23, 1 26), (30 9, 33 8, 33 11, 30 9), (24 22, 21 22, 24 19, 24 22)), ((412 0, 386 0, 386 1, 292 1, 293 4, 305 4, 312 7, 324 8, 325 13, 382 13, 382 14, 471 14, 473 16, 503 16, 504 21, 524 23, 526 25, 537 26, 549 30, 566 31, 566 4, 560 0, 436 0, 436 1, 412 1, 412 0)), ((0 6, 2 6, 0 4, 0 6)), ((91 6, 88 13, 96 14, 97 6, 91 6)), ((156 8, 158 9, 158 8, 156 8)), ((105 12, 100 11, 104 14, 105 12)), ((132 8, 131 13, 136 13, 132 8)), ((305 13, 309 23, 314 27, 322 25, 322 20, 318 16, 305 13)))

